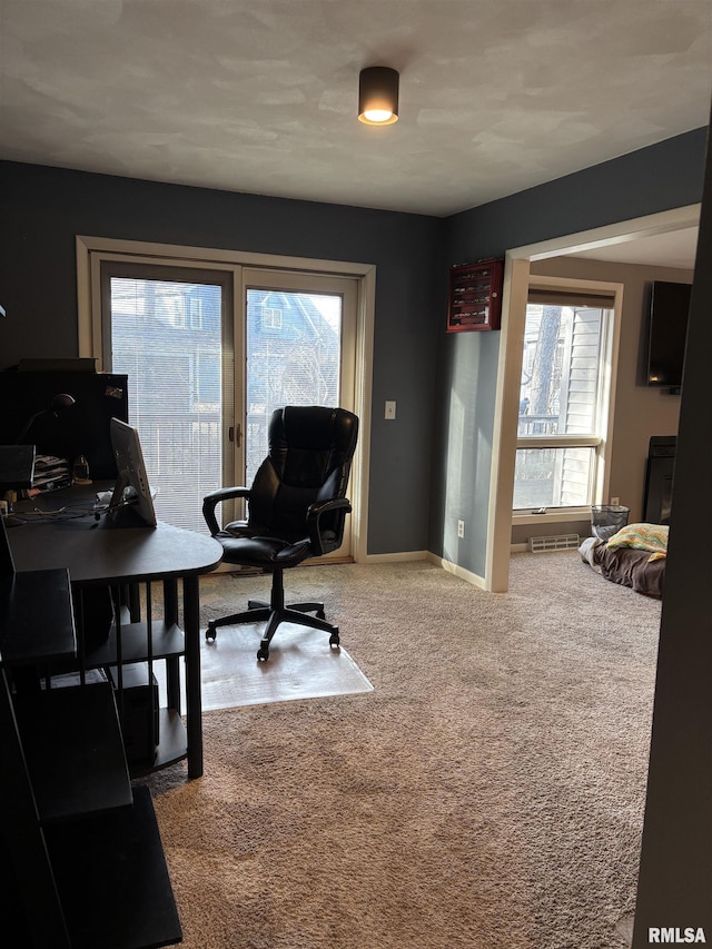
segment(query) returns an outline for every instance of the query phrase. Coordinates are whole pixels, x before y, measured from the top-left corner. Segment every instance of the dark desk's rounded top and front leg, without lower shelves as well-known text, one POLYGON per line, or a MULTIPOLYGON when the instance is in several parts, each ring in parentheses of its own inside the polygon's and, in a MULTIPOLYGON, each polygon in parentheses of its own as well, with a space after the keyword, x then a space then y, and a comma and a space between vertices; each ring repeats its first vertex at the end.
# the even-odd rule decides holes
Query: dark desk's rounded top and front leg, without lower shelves
MULTIPOLYGON (((27 523, 8 531, 18 571, 68 567, 72 587, 121 585, 160 581, 164 584, 164 623, 177 624, 178 582, 182 585, 186 726, 188 777, 202 774, 202 726, 200 696, 200 594, 198 577, 220 562, 222 548, 212 537, 160 523, 157 527, 116 527, 106 516, 91 513, 72 516, 75 505, 91 504, 106 485, 71 487, 17 505, 27 523), (65 515, 32 515, 33 507, 47 512, 68 510, 65 515), (66 518, 66 520, 65 520, 66 518)), ((119 658, 120 659, 120 658, 119 658)), ((177 672, 177 665, 174 665, 177 672)), ((170 673, 170 668, 169 668, 170 673)), ((169 674, 171 705, 180 708, 176 675, 169 674)))

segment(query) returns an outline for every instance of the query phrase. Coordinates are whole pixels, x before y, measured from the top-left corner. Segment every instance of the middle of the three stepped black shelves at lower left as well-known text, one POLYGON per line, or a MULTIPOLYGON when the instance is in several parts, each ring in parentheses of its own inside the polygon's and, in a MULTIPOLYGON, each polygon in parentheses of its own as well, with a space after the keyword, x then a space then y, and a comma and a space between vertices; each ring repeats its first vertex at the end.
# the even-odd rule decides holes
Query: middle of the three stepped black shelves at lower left
POLYGON ((42 824, 131 804, 108 682, 20 694, 14 709, 42 824))

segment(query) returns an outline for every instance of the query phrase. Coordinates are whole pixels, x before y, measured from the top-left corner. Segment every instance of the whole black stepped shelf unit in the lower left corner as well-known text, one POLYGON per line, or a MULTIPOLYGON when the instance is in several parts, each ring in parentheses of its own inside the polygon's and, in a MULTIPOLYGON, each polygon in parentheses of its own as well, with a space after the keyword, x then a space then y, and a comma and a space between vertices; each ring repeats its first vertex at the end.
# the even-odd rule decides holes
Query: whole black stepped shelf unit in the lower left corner
POLYGON ((41 688, 38 670, 76 658, 67 571, 6 574, 0 606, 3 941, 180 942, 154 805, 148 789, 131 788, 112 686, 82 673, 79 684, 41 688))

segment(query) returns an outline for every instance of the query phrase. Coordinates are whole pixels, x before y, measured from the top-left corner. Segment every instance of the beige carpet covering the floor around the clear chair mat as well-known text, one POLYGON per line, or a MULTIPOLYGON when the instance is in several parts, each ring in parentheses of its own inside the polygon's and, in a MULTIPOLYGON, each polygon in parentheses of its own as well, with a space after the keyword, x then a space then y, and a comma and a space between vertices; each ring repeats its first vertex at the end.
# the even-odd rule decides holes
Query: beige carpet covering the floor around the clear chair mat
MULTIPOLYGON (((501 595, 291 574, 374 691, 209 712, 205 775, 150 778, 186 949, 625 946, 660 605, 574 551, 515 555, 501 595)), ((206 579, 206 617, 263 582, 206 579)))

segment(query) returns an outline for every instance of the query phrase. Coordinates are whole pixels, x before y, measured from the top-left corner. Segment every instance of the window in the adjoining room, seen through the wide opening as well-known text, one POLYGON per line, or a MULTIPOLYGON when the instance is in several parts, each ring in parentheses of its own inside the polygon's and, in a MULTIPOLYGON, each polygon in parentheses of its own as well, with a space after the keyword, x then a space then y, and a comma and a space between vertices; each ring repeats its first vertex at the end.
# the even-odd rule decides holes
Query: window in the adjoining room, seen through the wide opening
POLYGON ((601 497, 614 312, 610 291, 530 289, 514 474, 516 513, 585 507, 601 497))

